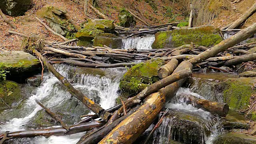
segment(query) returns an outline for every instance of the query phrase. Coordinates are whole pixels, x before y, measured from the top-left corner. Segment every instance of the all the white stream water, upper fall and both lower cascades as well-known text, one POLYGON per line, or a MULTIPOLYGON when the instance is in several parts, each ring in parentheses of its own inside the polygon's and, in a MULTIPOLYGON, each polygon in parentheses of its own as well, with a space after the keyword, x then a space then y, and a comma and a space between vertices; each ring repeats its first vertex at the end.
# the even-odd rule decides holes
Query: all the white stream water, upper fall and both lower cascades
MULTIPOLYGON (((137 49, 152 49, 151 44, 154 42, 154 36, 146 36, 143 38, 126 38, 123 41, 122 49, 137 48, 137 49)), ((118 87, 120 79, 126 72, 126 68, 106 68, 101 69, 105 72, 104 76, 98 74, 84 74, 77 73, 76 67, 68 66, 65 64, 55 64, 54 67, 60 74, 66 77, 78 90, 81 90, 86 96, 98 102, 104 109, 111 108, 115 105, 115 100, 118 98, 118 87)), ((220 134, 220 118, 213 116, 209 112, 202 109, 186 105, 182 99, 183 94, 192 94, 199 98, 206 98, 199 94, 191 92, 189 88, 180 88, 172 102, 166 104, 166 108, 172 111, 183 112, 186 114, 194 115, 202 120, 200 128, 205 130, 201 131, 202 144, 212 144, 212 140, 220 134), (206 131, 208 134, 206 134, 206 131)), ((57 78, 51 73, 44 74, 44 80, 41 85, 34 90, 34 94, 22 102, 22 107, 16 110, 5 110, 0 114, 0 132, 9 130, 10 132, 18 130, 26 130, 30 128, 30 122, 36 119, 37 113, 42 108, 36 104, 35 100, 40 100, 44 106, 54 110, 60 108, 62 104, 70 100, 72 96, 62 86, 57 78)), ((78 102, 79 103, 79 102, 78 102)), ((78 111, 78 110, 77 110, 78 111)), ((90 114, 93 114, 90 112, 90 114)), ((172 122, 174 117, 164 118, 158 130, 154 133, 153 144, 163 144, 169 138, 179 141, 180 138, 176 137, 179 131, 173 129, 172 122)), ((153 128, 150 126, 148 131, 153 128)), ((72 134, 70 136, 38 136, 35 138, 16 138, 9 140, 7 143, 19 144, 76 144, 78 140, 84 135, 84 132, 72 134)), ((186 142, 190 142, 190 137, 186 137, 186 142)))

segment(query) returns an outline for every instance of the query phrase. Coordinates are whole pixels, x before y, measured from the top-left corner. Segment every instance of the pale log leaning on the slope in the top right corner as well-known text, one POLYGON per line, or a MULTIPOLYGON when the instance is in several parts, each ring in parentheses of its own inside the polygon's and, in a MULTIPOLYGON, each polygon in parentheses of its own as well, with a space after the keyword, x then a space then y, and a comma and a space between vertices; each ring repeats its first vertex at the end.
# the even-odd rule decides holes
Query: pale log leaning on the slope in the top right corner
POLYGON ((250 15, 256 11, 256 2, 246 12, 238 18, 233 24, 227 28, 227 30, 235 29, 242 24, 250 15))

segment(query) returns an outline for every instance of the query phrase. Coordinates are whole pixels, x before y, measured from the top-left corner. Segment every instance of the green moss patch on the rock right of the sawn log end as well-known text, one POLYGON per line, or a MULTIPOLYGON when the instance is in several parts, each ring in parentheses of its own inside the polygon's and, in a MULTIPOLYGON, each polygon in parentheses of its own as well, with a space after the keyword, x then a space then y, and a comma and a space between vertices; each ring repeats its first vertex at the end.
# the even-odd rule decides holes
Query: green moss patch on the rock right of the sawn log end
POLYGON ((224 102, 235 110, 246 109, 251 95, 256 91, 246 82, 227 80, 224 84, 228 86, 223 92, 224 102))

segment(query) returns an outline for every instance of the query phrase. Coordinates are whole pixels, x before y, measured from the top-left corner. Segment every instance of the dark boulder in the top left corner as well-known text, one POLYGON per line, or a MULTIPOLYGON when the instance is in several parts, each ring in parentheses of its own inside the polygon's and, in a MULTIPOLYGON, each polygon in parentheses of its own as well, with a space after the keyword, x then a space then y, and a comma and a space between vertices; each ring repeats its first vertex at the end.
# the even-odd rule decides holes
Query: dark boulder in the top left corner
POLYGON ((32 0, 0 0, 0 9, 9 16, 22 16, 31 4, 32 0))

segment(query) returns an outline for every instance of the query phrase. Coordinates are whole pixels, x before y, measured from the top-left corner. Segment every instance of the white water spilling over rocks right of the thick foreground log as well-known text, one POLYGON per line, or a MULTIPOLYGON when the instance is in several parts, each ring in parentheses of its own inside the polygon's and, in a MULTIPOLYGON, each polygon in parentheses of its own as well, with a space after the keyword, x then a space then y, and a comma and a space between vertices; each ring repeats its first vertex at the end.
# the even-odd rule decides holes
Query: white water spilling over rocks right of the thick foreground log
MULTIPOLYGON (((177 130, 176 123, 176 113, 177 116, 180 114, 188 115, 199 119, 199 130, 202 129, 201 138, 202 144, 212 144, 212 141, 218 134, 220 134, 220 118, 212 115, 210 112, 206 112, 202 109, 198 109, 191 104, 186 104, 186 99, 184 95, 190 94, 198 98, 204 99, 204 97, 199 94, 190 92, 189 88, 180 88, 176 93, 176 96, 172 99, 172 102, 166 104, 166 108, 171 109, 174 112, 173 116, 165 117, 162 124, 159 126, 158 130, 154 132, 154 142, 153 144, 163 144, 167 143, 170 139, 174 138, 176 141, 183 139, 185 143, 192 144, 191 135, 180 137, 180 131, 177 130), (206 136, 206 131, 210 132, 210 135, 206 136), (177 137, 178 135, 178 137, 177 137), (186 139, 186 140, 184 140, 186 139)), ((182 125, 182 124, 181 124, 182 125)), ((179 127, 179 126, 178 126, 179 127)))

